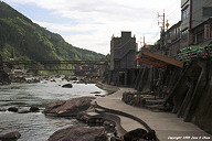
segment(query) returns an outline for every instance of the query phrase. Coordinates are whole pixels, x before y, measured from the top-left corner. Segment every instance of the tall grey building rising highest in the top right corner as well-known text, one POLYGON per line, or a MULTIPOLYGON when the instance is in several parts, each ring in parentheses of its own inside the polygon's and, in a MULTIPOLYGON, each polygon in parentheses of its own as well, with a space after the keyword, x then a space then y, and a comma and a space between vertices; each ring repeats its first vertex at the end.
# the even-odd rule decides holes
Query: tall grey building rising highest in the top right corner
POLYGON ((181 44, 180 48, 193 44, 191 30, 212 17, 211 0, 181 0, 181 44))

